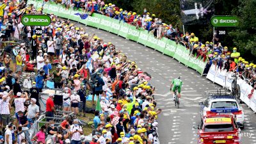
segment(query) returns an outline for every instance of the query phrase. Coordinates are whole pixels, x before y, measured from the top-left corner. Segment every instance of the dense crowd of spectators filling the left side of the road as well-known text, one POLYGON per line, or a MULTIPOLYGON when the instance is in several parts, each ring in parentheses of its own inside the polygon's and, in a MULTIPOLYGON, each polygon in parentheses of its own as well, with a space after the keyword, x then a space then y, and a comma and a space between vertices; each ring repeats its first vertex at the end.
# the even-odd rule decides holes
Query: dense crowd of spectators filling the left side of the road
POLYGON ((36 36, 38 27, 24 26, 20 20, 24 13, 44 14, 43 8, 36 10, 25 1, 1 3, 1 31, 8 29, 13 35, 1 36, 7 44, 1 45, 5 48, 0 58, 4 67, 0 70, 0 143, 159 143, 157 115, 161 109, 156 108, 150 75, 136 61, 128 60, 111 42, 89 36, 83 28, 53 14, 51 24, 42 26, 43 34, 36 36), (32 73, 24 77, 33 63, 35 78, 32 73), (45 104, 47 124, 29 135, 42 115, 39 94, 47 88, 62 89, 61 109, 76 117, 85 115, 86 98, 92 95, 92 140, 85 140, 78 119, 66 116, 56 124, 53 94, 45 104))

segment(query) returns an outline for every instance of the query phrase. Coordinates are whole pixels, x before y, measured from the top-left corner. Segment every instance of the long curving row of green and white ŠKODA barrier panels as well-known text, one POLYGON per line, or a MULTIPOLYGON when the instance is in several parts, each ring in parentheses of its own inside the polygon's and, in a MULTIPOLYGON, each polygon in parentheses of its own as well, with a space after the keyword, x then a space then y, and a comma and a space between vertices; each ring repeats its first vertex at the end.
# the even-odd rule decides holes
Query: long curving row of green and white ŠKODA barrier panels
MULTIPOLYGON (((28 0, 28 4, 34 4, 36 9, 38 9, 42 7, 43 1, 28 0)), ((115 33, 118 36, 133 40, 152 49, 156 49, 163 54, 172 56, 176 60, 180 61, 180 63, 195 69, 200 74, 204 72, 206 65, 205 61, 200 58, 190 56, 189 50, 183 45, 176 44, 167 38, 157 39, 154 35, 148 33, 147 30, 136 29, 135 26, 131 26, 130 24, 121 22, 120 20, 112 19, 111 17, 97 13, 93 13, 93 15, 88 16, 87 19, 81 19, 79 15, 75 15, 75 13, 82 13, 81 10, 74 11, 66 9, 61 4, 56 4, 51 1, 44 4, 44 12, 48 14, 54 13, 54 15, 57 15, 58 17, 74 20, 87 26, 115 33)))

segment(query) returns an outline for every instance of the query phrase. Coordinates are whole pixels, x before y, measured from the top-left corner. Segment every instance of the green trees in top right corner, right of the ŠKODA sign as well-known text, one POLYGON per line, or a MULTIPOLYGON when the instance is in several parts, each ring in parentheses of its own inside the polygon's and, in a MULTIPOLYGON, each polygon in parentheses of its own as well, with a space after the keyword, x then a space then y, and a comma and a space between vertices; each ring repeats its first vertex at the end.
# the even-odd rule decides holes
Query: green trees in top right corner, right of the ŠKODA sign
MULTIPOLYGON (((256 1, 239 0, 239 6, 232 10, 232 14, 239 17, 239 26, 229 33, 234 44, 248 57, 254 60, 256 57, 256 1), (253 56, 253 57, 252 57, 253 56)), ((244 56, 244 57, 246 57, 244 56)))

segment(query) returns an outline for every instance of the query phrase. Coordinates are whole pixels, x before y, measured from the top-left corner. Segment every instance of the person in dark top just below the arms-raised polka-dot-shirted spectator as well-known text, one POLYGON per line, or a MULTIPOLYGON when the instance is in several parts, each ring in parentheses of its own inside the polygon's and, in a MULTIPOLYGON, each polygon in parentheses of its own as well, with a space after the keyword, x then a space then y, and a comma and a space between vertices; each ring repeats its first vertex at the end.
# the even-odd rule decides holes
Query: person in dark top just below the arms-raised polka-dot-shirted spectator
POLYGON ((24 115, 22 111, 18 111, 18 118, 17 118, 18 124, 17 127, 22 127, 22 132, 25 134, 25 138, 28 141, 29 144, 32 144, 32 141, 29 137, 29 131, 28 131, 28 118, 24 115))

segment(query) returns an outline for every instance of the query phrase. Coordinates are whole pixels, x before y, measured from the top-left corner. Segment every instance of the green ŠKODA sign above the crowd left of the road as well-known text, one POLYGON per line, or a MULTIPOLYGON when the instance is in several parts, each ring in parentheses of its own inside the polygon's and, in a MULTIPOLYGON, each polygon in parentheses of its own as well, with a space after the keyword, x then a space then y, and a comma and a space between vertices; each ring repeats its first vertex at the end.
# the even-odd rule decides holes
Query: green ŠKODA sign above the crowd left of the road
POLYGON ((51 17, 49 15, 23 15, 21 22, 24 26, 49 26, 51 17))

